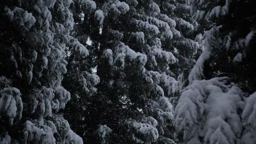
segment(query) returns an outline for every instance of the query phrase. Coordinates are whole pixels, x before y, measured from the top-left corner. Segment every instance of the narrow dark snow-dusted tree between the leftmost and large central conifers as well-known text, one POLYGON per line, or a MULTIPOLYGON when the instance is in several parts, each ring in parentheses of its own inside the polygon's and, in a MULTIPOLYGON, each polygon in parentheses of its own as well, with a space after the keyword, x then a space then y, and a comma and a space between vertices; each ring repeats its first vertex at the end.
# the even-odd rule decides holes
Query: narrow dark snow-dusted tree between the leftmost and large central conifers
MULTIPOLYGON (((72 41, 72 45, 74 45, 72 46, 74 48, 78 46, 84 47, 77 39, 72 41)), ((64 116, 70 122, 71 128, 78 135, 84 137, 86 106, 89 103, 88 99, 96 93, 95 86, 100 82, 100 78, 92 70, 92 58, 94 56, 88 56, 89 51, 85 47, 83 49, 86 51, 80 52, 69 48, 67 73, 64 76, 62 85, 71 93, 71 100, 66 106, 64 116)))

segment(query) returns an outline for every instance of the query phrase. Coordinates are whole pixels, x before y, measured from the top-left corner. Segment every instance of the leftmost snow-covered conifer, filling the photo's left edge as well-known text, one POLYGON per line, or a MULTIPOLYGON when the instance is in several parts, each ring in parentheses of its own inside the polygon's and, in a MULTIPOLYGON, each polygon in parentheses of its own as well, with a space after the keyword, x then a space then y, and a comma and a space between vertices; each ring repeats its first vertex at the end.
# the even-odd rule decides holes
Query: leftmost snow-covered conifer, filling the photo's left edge
POLYGON ((0 143, 83 143, 61 113, 72 1, 1 1, 0 143))

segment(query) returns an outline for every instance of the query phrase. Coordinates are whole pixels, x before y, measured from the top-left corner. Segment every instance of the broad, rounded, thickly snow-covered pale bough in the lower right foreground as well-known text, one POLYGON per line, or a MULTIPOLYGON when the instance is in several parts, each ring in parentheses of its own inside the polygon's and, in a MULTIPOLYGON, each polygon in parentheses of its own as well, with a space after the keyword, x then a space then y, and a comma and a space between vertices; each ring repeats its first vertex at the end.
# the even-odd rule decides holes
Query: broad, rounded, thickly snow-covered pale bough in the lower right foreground
POLYGON ((227 77, 195 80, 184 89, 175 109, 175 124, 187 143, 236 143, 242 134, 244 105, 240 88, 227 77))

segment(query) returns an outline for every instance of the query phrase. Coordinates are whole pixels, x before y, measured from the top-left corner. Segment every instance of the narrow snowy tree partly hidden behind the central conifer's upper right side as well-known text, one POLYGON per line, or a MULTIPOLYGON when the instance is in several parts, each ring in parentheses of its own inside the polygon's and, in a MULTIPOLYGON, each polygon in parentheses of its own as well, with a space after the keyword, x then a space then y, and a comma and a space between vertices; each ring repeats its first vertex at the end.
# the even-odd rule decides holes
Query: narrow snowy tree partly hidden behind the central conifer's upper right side
MULTIPOLYGON (((160 1, 159 5, 167 16, 176 21, 174 25, 178 30, 177 37, 166 41, 163 46, 165 50, 172 51, 178 60, 170 66, 170 75, 181 81, 182 87, 185 87, 188 85, 188 74, 202 50, 199 25, 192 19, 186 1, 160 1)), ((175 95, 179 97, 179 93, 175 95)))

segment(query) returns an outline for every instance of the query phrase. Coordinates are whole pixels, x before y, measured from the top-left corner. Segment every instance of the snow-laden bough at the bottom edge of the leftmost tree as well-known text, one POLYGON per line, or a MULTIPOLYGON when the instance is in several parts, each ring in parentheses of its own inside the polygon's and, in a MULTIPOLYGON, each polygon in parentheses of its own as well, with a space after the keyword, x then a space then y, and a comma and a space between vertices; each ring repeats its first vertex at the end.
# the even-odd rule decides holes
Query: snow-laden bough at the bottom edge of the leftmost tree
POLYGON ((25 143, 83 143, 80 136, 69 127, 68 122, 60 116, 54 116, 52 121, 27 121, 24 131, 25 143), (54 136, 55 135, 55 136, 54 136))

